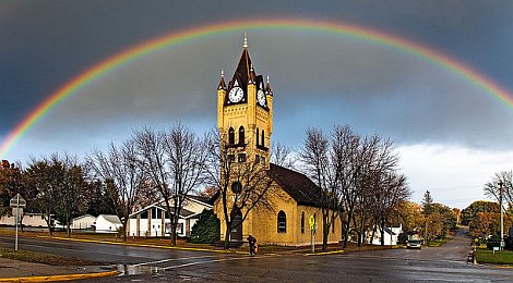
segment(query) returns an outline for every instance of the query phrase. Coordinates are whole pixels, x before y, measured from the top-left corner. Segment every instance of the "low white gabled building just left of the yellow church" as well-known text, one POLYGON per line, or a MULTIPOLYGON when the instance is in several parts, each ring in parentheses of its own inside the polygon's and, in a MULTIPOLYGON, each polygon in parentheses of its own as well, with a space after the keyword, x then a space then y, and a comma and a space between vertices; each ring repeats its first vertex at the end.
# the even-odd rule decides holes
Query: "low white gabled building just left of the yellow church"
MULTIPOLYGON (((191 229, 203 209, 212 209, 212 205, 200 197, 189 197, 183 204, 178 219, 178 236, 188 237, 191 229)), ((164 201, 155 202, 130 214, 129 236, 162 237, 170 236, 171 219, 165 209, 164 201)))

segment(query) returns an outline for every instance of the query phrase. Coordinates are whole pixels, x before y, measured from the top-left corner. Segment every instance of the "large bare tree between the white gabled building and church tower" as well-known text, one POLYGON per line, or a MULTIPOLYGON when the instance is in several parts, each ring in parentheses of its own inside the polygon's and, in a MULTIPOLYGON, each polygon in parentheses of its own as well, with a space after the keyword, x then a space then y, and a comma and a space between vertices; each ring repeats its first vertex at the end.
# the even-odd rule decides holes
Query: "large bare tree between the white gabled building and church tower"
POLYGON ((176 124, 169 132, 145 127, 134 132, 134 138, 153 185, 171 218, 171 245, 175 246, 180 211, 204 181, 206 137, 200 138, 187 126, 176 124))

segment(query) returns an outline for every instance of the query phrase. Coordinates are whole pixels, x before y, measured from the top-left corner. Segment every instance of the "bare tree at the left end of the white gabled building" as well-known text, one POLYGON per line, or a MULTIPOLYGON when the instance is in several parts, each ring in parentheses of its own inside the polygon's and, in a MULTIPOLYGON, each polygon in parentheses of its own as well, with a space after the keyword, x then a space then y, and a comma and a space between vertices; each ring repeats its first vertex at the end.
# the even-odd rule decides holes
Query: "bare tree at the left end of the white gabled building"
POLYGON ((133 139, 123 142, 121 147, 110 144, 107 152, 95 150, 87 157, 94 177, 103 182, 107 204, 123 225, 123 241, 127 242, 127 224, 138 205, 140 192, 147 186, 144 167, 138 160, 133 139))

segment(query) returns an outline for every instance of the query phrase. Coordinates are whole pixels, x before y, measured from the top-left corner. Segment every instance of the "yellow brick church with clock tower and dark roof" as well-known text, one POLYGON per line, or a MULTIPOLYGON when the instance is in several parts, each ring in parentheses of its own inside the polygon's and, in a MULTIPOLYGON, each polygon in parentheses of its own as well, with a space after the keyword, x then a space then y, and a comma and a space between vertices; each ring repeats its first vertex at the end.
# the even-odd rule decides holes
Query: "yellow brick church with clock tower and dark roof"
MULTIPOLYGON (((270 162, 271 137, 273 134, 273 97, 269 76, 256 74, 251 61, 248 40, 244 36, 243 49, 237 67, 228 84, 224 73, 217 87, 217 126, 222 139, 242 148, 237 156, 228 157, 230 162, 253 162, 261 164, 270 177, 270 188, 265 194, 272 208, 254 207, 248 212, 242 224, 230 231, 230 241, 246 241, 248 235, 259 244, 301 246, 310 244, 309 219, 317 223, 314 242, 322 243, 322 212, 317 185, 305 174, 270 162), (242 153, 240 153, 242 152, 242 153)), ((228 192, 227 201, 234 199, 228 192)), ((220 239, 225 239, 226 224, 223 212, 223 198, 217 197, 214 212, 220 219, 220 239)), ((243 211, 242 211, 243 213, 243 211)), ((234 222, 241 214, 231 216, 234 222)), ((232 225, 234 226, 234 225, 232 225)), ((341 220, 337 218, 330 231, 329 243, 342 238, 341 220)))

